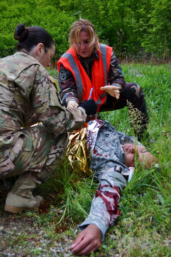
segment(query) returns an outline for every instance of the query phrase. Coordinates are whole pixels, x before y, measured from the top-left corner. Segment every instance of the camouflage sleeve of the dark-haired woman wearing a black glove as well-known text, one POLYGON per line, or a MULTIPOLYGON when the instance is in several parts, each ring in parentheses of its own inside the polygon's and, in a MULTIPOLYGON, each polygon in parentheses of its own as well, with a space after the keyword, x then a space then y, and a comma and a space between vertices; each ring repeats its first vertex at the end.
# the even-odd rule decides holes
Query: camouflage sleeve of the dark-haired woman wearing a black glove
MULTIPOLYGON (((66 109, 46 69, 43 66, 37 66, 37 69, 30 94, 37 119, 56 134, 80 128, 87 118, 84 109, 66 109)), ((24 84, 25 79, 21 83, 24 84)))

